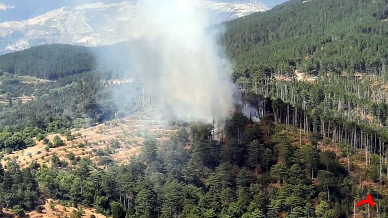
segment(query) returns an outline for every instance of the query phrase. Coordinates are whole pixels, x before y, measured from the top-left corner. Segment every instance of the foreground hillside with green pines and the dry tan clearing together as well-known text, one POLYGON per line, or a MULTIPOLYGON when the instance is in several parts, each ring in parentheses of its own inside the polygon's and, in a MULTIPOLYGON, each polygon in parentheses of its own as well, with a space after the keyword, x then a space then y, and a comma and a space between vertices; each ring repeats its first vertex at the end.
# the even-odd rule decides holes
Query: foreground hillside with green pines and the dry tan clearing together
MULTIPOLYGON (((29 212, 44 218, 51 218, 52 214, 65 217, 76 209, 71 207, 75 203, 83 205, 86 213, 82 217, 92 213, 114 218, 126 214, 143 217, 144 213, 151 214, 150 217, 171 217, 173 213, 201 217, 204 213, 206 218, 331 218, 349 217, 354 213, 361 218, 368 213, 373 217, 377 212, 373 208, 369 211, 367 206, 353 210, 353 197, 361 191, 359 183, 368 185, 376 204, 383 204, 384 197, 379 196, 388 194, 385 183, 378 183, 378 156, 376 159, 375 154, 367 152, 371 165, 364 165, 359 159, 364 151, 348 152, 351 147, 347 145, 331 144, 316 133, 277 123, 269 113, 261 123, 252 123, 242 114, 234 114, 220 141, 211 139, 211 126, 194 124, 189 132, 182 128, 168 140, 139 140, 142 143, 137 151, 130 152, 130 149, 138 145, 130 145, 128 150, 122 142, 123 151, 112 149, 115 146, 110 141, 101 151, 118 150, 109 155, 114 161, 108 161, 109 156, 100 156, 101 151, 96 156, 90 150, 99 150, 105 146, 103 140, 114 137, 126 141, 120 134, 131 137, 131 131, 140 130, 138 124, 144 123, 144 120, 134 121, 125 119, 107 128, 80 130, 74 143, 64 139, 65 145, 50 149, 48 155, 45 151, 33 153, 40 145, 26 149, 32 151, 33 159, 38 158, 36 161, 21 156, 20 152, 15 153, 20 155, 16 159, 12 158, 15 154, 5 155, 4 161, 10 161, 0 174, 3 181, 0 183, 5 187, 2 190, 15 191, 16 186, 9 183, 13 182, 18 184, 20 194, 10 196, 0 190, 0 196, 11 202, 13 213, 17 207, 12 202, 18 202, 25 209, 45 204, 43 210, 29 212), (134 128, 125 133, 128 127, 134 128), (99 133, 100 129, 106 132, 99 133), (83 140, 90 144, 84 144, 83 140), (85 147, 80 147, 81 144, 85 147), (81 149, 85 154, 80 153, 81 149), (132 154, 116 159, 128 151, 132 154), (74 158, 69 154, 74 154, 74 158), (27 160, 31 162, 24 163, 27 160), (29 179, 17 180, 11 173, 28 175, 29 179), (9 177, 4 180, 6 176, 9 177), (39 189, 31 189, 35 183, 39 189), (47 198, 43 202, 37 201, 35 191, 38 190, 47 198), (55 202, 49 203, 50 198, 55 202)), ((48 138, 54 142, 52 135, 48 138)), ((385 173, 383 169, 380 178, 385 173)))

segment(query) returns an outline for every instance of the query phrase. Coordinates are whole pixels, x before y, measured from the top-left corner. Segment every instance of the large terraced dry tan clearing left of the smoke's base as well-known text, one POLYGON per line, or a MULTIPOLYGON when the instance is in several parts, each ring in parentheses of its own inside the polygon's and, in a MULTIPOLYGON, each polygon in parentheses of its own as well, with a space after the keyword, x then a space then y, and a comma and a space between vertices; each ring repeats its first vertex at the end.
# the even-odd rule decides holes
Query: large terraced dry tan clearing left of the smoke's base
MULTIPOLYGON (((130 120, 124 119, 122 122, 113 121, 113 125, 100 124, 91 128, 74 130, 74 134, 80 134, 75 140, 68 141, 66 137, 58 135, 65 143, 64 146, 50 148, 47 152, 45 151, 46 145, 43 144, 43 140, 38 142, 35 139, 36 145, 29 147, 23 151, 16 151, 12 154, 5 155, 1 163, 3 166, 11 159, 16 159, 19 166, 22 168, 29 166, 32 161, 37 161, 40 164, 47 164, 51 166, 52 154, 57 154, 61 161, 67 161, 70 164, 70 161, 66 156, 69 152, 73 152, 74 155, 83 157, 90 157, 95 163, 98 162, 99 157, 93 152, 94 149, 104 150, 107 146, 110 145, 112 140, 118 140, 122 146, 121 149, 115 149, 114 154, 110 156, 118 164, 125 164, 130 161, 130 157, 138 154, 140 151, 140 146, 144 142, 144 134, 153 134, 157 136, 158 142, 165 142, 169 139, 171 133, 174 133, 177 130, 177 126, 163 126, 158 123, 158 121, 152 120, 130 120), (114 124, 115 123, 115 124, 114 124), (78 147, 80 144, 87 145, 85 147, 78 147), (29 151, 30 155, 26 155, 25 152, 29 151), (36 151, 41 151, 40 154, 35 154, 36 151)), ((47 138, 52 142, 52 139, 55 135, 48 135, 47 138)))

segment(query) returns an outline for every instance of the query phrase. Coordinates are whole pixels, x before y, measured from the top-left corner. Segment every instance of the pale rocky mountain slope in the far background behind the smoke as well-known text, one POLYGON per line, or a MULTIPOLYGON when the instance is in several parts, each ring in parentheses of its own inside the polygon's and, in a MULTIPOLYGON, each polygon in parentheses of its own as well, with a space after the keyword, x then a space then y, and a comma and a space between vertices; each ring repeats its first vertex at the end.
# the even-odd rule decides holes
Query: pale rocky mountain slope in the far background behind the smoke
MULTIPOLYGON (((211 13, 211 23, 267 10, 260 3, 201 1, 211 13)), ((24 21, 0 23, 0 54, 50 43, 108 45, 141 38, 137 5, 130 2, 92 3, 61 7, 24 21)))

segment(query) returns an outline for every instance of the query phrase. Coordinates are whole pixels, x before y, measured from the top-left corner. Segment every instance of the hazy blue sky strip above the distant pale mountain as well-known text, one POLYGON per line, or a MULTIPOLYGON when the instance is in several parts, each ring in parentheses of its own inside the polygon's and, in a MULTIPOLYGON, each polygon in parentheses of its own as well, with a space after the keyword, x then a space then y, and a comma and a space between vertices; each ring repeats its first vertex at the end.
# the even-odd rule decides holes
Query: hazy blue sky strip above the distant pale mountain
MULTIPOLYGON (((119 0, 0 0, 0 22, 24 20, 35 17, 49 10, 68 5, 78 5, 91 2, 117 2, 119 0)), ((135 0, 128 0, 129 2, 135 0)), ((217 1, 217 0, 215 0, 217 1)), ((222 2, 251 2, 257 1, 274 7, 286 0, 218 0, 222 2)))

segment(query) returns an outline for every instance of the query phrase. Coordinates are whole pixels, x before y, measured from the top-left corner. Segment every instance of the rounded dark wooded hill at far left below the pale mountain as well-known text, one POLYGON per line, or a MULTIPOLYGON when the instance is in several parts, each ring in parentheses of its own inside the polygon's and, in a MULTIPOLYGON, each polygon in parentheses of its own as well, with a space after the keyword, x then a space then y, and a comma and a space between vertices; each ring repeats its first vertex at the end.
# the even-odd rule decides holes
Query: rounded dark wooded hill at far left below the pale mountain
POLYGON ((57 80, 91 71, 95 57, 87 47, 42 45, 0 56, 0 72, 57 80))

